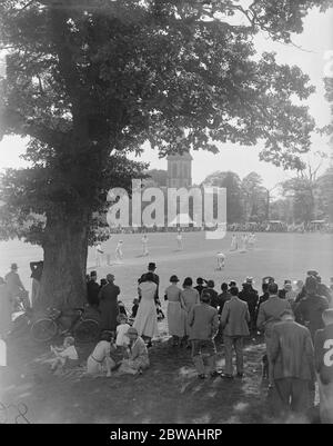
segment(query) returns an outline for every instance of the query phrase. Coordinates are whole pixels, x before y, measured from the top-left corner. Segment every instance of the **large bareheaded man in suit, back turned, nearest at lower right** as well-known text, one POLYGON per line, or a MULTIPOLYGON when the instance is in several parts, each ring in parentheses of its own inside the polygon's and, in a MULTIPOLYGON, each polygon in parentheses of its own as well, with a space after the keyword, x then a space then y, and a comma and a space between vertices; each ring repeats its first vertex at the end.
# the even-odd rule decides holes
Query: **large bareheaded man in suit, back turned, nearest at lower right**
POLYGON ((291 309, 274 324, 271 360, 278 397, 278 410, 304 414, 310 407, 310 384, 314 383, 314 350, 310 331, 294 321, 291 309))

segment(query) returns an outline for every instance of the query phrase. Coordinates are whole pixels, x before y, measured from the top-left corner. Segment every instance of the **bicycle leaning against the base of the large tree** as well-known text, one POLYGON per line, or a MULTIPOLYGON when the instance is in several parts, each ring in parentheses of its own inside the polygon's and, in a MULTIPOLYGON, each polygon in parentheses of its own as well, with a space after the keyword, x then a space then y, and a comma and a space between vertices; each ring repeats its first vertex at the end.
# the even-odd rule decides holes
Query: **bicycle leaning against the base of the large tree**
POLYGON ((84 318, 83 308, 73 308, 75 314, 69 328, 60 330, 61 317, 65 313, 57 309, 49 308, 49 315, 41 317, 32 323, 31 336, 36 341, 48 343, 57 335, 67 336, 73 335, 78 343, 92 343, 98 339, 100 335, 100 325, 95 319, 84 318))

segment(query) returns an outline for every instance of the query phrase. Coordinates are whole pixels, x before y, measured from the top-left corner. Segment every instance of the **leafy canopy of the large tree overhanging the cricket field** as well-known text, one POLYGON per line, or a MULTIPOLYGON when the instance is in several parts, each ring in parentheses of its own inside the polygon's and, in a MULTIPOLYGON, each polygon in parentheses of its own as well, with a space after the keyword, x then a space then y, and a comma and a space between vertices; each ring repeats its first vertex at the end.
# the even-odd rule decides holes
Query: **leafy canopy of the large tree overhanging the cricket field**
POLYGON ((243 3, 2 1, 0 137, 30 138, 31 168, 1 180, 12 219, 91 215, 109 187, 140 176, 127 155, 145 141, 165 156, 263 140, 261 159, 300 168, 314 121, 291 98, 314 88, 297 67, 258 57, 253 36, 290 42, 311 8, 331 2, 243 3))

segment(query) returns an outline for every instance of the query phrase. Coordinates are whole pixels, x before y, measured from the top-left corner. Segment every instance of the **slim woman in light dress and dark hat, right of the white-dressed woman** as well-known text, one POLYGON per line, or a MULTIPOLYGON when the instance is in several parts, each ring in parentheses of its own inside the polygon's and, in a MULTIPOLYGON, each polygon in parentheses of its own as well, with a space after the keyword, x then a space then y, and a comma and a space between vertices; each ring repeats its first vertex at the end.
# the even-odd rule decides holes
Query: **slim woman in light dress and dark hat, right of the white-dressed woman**
POLYGON ((170 277, 171 285, 165 289, 164 299, 168 300, 169 335, 172 336, 172 345, 179 345, 179 338, 185 336, 185 313, 181 306, 182 290, 176 286, 179 278, 170 277))

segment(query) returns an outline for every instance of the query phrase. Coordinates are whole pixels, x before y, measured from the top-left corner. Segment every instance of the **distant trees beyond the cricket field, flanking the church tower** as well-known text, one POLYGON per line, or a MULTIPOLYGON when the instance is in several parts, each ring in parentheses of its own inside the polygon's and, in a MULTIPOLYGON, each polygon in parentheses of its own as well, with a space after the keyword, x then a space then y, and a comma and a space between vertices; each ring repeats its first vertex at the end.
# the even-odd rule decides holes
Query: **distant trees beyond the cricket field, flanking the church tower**
MULTIPOLYGON (((262 177, 250 172, 243 179, 233 171, 215 171, 201 185, 226 188, 228 222, 262 222, 282 220, 286 224, 309 224, 312 220, 333 222, 333 168, 319 175, 319 168, 307 165, 294 177, 276 185, 279 198, 263 186, 262 177)), ((167 171, 147 171, 147 187, 165 187, 167 171)))

